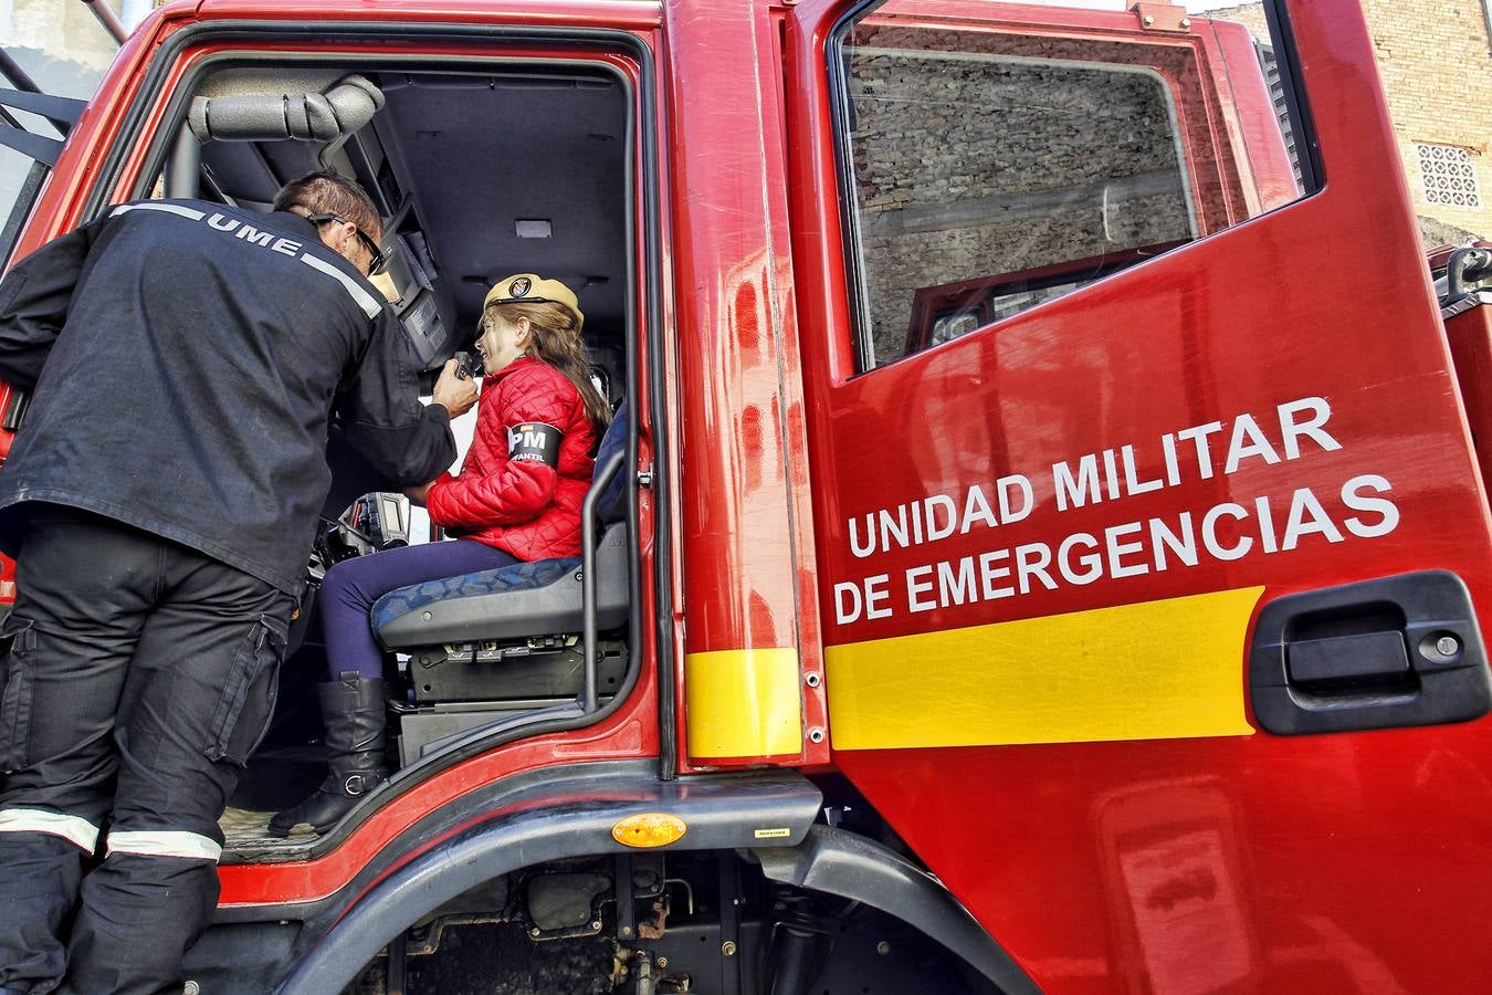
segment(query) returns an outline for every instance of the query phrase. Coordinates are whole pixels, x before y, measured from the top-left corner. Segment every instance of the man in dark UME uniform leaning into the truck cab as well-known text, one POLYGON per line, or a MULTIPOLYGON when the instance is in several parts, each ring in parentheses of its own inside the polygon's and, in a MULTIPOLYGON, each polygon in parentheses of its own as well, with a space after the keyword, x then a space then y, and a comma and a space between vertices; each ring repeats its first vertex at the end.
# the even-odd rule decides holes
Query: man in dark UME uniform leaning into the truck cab
POLYGON ((419 403, 367 280, 379 236, 357 183, 315 175, 269 215, 116 206, 0 282, 0 377, 33 392, 0 471, 18 558, 0 995, 182 991, 218 817, 273 712, 333 418, 391 485, 455 458, 448 421, 474 386, 452 362, 419 403))

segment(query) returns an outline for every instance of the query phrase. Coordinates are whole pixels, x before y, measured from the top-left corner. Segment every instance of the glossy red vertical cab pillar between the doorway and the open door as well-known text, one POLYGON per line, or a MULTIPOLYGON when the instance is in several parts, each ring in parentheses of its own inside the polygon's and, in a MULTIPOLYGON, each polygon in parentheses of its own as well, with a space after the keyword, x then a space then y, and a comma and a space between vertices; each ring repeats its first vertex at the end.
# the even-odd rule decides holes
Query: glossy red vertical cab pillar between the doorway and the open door
MULTIPOLYGON (((686 653, 794 647, 804 673, 818 673, 815 628, 798 625, 800 597, 812 610, 815 594, 812 553, 795 561, 795 549, 812 550, 812 531, 780 131, 767 113, 779 100, 771 25, 740 0, 679 0, 665 21, 686 653)), ((801 707, 822 726, 818 692, 801 686, 813 700, 801 707)), ((686 694, 680 679, 680 710, 686 694)), ((809 755, 822 761, 827 744, 804 737, 803 750, 777 761, 809 755)))

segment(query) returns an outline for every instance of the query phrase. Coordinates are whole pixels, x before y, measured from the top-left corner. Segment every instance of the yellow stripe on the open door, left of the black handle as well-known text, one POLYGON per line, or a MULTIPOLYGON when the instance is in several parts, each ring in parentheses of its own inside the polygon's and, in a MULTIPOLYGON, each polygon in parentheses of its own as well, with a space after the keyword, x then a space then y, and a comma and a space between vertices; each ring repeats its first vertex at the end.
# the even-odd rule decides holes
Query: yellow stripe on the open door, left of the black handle
POLYGON ((1264 588, 830 646, 834 749, 1252 735, 1264 588))

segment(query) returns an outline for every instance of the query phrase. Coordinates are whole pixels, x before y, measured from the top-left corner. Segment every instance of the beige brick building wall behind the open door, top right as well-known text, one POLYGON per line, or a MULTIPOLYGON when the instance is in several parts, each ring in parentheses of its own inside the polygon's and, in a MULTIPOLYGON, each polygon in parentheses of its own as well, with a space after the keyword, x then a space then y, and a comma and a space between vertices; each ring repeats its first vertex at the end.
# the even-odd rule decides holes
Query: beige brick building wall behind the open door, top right
MULTIPOLYGON (((1492 39, 1483 0, 1359 0, 1426 243, 1492 239, 1492 39), (1419 146, 1429 149, 1426 169, 1419 146), (1474 179, 1476 191, 1467 179, 1474 179), (1480 204, 1470 201, 1473 192, 1480 204)), ((1212 10, 1264 33, 1258 3, 1212 10)))

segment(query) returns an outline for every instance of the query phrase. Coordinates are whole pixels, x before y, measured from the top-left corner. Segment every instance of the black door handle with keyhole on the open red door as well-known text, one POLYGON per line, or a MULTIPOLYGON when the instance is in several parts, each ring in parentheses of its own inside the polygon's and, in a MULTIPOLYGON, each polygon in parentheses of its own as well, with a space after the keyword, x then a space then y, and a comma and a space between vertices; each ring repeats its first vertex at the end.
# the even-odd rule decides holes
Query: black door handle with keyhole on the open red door
POLYGON ((1253 713, 1270 732, 1346 732, 1477 719, 1492 676, 1471 594, 1426 570, 1277 598, 1249 652, 1253 713))

